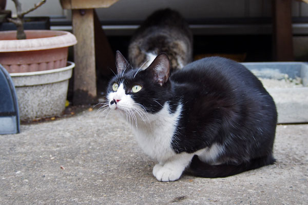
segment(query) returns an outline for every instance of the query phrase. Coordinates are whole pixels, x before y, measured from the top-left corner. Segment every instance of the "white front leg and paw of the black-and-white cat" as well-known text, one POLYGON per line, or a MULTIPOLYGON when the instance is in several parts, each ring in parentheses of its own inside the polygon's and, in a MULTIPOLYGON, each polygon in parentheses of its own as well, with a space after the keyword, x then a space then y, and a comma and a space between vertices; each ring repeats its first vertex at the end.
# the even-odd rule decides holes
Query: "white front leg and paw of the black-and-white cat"
POLYGON ((194 154, 188 153, 176 154, 163 165, 161 163, 155 165, 153 175, 159 181, 176 181, 181 177, 193 156, 194 154))

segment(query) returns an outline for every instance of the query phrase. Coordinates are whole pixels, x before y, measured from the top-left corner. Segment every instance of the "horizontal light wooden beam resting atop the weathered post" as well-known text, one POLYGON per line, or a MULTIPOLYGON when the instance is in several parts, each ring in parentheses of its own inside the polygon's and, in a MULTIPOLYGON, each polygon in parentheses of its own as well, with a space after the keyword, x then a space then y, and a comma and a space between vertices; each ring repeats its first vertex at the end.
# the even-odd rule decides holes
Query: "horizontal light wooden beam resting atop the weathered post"
POLYGON ((63 9, 108 8, 119 0, 60 0, 63 9))

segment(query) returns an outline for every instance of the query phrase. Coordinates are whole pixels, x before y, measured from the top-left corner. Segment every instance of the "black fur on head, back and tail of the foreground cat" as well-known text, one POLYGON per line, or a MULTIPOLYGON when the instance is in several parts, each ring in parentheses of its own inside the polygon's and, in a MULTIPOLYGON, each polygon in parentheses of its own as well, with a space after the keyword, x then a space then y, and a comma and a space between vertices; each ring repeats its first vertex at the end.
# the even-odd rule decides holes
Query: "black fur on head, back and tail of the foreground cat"
POLYGON ((176 153, 194 153, 215 143, 224 147, 218 159, 221 165, 210 165, 195 156, 189 172, 225 177, 274 163, 276 106, 249 70, 226 58, 203 58, 173 72, 160 85, 153 77, 155 66, 127 70, 123 77, 120 74, 110 81, 109 89, 114 81, 124 81, 127 94, 149 113, 160 111, 165 103, 173 113, 182 104, 171 143, 176 153), (136 83, 143 89, 129 93, 136 83))

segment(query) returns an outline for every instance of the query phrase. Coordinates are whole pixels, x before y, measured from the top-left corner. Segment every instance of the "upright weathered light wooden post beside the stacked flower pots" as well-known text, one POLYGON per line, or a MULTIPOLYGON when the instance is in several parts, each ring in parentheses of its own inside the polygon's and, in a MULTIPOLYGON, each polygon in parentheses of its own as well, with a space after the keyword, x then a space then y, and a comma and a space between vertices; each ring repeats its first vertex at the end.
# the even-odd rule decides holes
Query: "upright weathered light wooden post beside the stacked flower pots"
POLYGON ((74 46, 73 104, 92 104, 97 98, 95 75, 94 9, 73 9, 73 33, 78 40, 74 46))

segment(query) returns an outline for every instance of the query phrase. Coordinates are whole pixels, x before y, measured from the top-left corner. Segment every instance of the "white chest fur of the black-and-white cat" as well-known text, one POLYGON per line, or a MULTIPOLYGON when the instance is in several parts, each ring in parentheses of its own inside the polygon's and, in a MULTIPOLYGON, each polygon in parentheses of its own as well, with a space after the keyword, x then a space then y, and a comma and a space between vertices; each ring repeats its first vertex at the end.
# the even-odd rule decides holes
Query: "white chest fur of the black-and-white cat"
POLYGON ((164 163, 176 153, 171 148, 172 136, 180 118, 182 106, 179 105, 176 112, 169 113, 166 103, 161 111, 156 114, 148 114, 148 120, 139 123, 134 132, 143 151, 152 158, 164 163))

